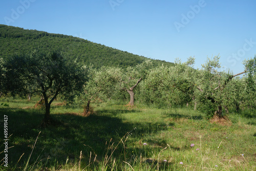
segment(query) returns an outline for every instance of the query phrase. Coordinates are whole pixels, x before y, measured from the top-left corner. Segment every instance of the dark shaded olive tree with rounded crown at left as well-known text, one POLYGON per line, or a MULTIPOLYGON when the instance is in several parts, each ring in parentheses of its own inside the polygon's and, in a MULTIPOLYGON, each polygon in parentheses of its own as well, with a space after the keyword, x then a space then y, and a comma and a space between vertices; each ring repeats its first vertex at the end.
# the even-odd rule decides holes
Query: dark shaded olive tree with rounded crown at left
POLYGON ((37 50, 12 56, 7 61, 9 91, 27 95, 39 93, 45 101, 44 123, 50 121, 51 103, 62 94, 72 100, 76 92, 82 91, 87 81, 87 71, 77 62, 68 62, 59 52, 37 50))

